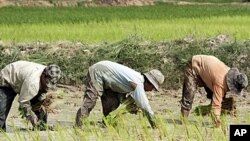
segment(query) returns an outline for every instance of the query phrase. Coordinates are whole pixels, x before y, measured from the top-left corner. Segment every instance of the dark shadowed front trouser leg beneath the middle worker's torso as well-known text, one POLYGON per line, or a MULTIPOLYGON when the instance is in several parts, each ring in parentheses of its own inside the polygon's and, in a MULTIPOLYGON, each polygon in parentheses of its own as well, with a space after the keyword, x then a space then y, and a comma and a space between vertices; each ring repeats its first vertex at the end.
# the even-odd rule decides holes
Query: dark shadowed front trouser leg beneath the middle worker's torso
POLYGON ((106 117, 110 112, 117 109, 120 105, 120 94, 113 92, 112 90, 105 90, 104 94, 101 96, 103 115, 106 117))

